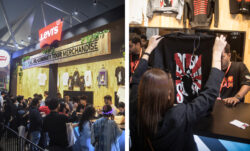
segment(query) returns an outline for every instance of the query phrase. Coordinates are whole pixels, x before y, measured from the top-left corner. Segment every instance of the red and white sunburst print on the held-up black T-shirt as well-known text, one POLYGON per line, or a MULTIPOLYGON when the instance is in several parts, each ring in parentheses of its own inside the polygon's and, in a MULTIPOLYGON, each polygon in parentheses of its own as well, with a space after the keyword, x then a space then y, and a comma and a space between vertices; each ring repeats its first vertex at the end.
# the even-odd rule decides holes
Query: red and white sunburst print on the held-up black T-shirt
POLYGON ((176 62, 176 100, 183 103, 185 98, 192 100, 201 89, 201 55, 175 53, 176 62))

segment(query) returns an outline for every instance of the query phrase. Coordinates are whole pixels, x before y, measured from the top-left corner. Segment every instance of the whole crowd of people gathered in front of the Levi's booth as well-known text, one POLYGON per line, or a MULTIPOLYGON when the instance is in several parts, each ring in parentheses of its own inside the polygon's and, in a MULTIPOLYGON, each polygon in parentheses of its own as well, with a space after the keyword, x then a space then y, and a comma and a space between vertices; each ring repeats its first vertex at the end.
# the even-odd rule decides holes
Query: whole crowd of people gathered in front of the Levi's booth
MULTIPOLYGON (((114 116, 124 118, 125 104, 120 102, 116 108, 112 97, 107 95, 102 110, 96 110, 87 99, 85 95, 62 98, 60 93, 56 98, 50 98, 45 91, 43 95, 34 94, 33 98, 25 100, 24 96, 13 97, 2 91, 0 139, 5 125, 19 136, 51 151, 120 150, 122 131, 114 116)), ((37 147, 31 146, 31 150, 37 150, 37 147)))

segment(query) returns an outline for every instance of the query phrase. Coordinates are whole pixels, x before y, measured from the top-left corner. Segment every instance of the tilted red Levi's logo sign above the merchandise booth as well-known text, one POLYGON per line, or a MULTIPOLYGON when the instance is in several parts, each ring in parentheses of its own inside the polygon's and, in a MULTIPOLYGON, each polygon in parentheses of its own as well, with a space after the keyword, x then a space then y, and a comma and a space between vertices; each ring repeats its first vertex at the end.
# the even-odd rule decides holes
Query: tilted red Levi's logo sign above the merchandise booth
POLYGON ((59 19, 39 30, 40 48, 50 45, 55 40, 61 41, 63 20, 59 19))

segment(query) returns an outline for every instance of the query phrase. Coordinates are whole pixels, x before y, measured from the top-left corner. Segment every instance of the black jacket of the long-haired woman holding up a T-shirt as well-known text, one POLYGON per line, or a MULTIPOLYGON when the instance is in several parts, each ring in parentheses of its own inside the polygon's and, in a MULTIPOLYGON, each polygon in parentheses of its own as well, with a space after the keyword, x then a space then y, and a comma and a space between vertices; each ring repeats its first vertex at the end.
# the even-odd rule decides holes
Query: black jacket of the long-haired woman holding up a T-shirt
MULTIPOLYGON (((137 87, 141 76, 148 68, 148 62, 141 60, 133 76, 132 94, 130 95, 130 135, 132 150, 150 150, 145 138, 137 135, 137 87)), ((166 111, 159 123, 158 132, 150 138, 156 151, 194 151, 197 150, 193 138, 192 125, 211 108, 219 94, 224 73, 212 68, 209 79, 197 98, 192 103, 182 103, 166 111)), ((150 120, 150 119, 149 119, 150 120)))

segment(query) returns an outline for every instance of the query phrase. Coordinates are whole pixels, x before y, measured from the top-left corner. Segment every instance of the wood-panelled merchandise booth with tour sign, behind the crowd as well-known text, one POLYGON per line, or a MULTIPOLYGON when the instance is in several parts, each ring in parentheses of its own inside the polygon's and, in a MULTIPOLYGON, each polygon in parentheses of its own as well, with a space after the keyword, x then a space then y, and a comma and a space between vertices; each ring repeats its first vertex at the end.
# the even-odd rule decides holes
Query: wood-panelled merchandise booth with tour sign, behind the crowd
POLYGON ((114 104, 124 102, 124 19, 120 16, 100 27, 97 24, 105 19, 105 14, 104 19, 97 17, 81 23, 63 31, 62 37, 85 32, 15 58, 11 93, 26 99, 44 91, 49 91, 51 97, 57 93, 62 97, 68 94, 72 99, 86 95, 94 107, 102 107, 106 95, 112 96, 114 104), (86 24, 98 28, 86 31, 86 24))

